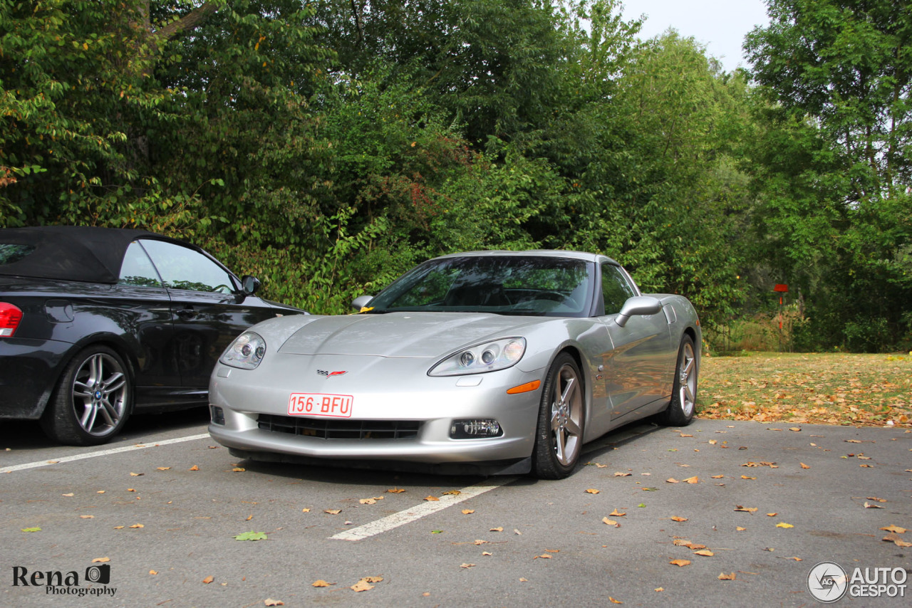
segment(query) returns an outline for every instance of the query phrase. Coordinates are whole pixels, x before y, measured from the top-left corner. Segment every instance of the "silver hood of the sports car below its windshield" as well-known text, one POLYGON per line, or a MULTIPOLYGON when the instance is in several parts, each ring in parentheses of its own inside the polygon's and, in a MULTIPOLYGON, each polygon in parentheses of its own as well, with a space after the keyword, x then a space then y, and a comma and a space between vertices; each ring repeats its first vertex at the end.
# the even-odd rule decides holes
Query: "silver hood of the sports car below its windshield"
POLYGON ((291 355, 437 357, 484 340, 523 335, 540 317, 388 313, 315 317, 279 348, 291 355))

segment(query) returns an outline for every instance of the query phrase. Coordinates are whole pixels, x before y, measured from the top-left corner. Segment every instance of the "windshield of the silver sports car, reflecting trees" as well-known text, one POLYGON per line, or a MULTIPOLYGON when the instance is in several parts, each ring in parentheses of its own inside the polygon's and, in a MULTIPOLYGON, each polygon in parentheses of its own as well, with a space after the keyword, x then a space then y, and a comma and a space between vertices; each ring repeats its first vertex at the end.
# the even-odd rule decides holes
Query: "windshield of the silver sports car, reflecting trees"
POLYGON ((593 268, 583 260, 528 255, 431 260, 378 294, 369 312, 588 316, 593 268))

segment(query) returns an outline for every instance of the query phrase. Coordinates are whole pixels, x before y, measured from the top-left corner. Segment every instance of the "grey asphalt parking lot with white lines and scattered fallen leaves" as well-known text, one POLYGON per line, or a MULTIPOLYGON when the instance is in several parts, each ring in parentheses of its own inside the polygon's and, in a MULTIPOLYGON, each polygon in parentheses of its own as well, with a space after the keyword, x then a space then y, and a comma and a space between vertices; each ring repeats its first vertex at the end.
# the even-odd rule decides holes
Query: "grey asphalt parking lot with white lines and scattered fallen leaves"
POLYGON ((821 562, 834 605, 910 605, 907 428, 639 424, 583 461, 435 477, 234 459, 202 413, 99 448, 4 424, 0 605, 813 606, 821 562))

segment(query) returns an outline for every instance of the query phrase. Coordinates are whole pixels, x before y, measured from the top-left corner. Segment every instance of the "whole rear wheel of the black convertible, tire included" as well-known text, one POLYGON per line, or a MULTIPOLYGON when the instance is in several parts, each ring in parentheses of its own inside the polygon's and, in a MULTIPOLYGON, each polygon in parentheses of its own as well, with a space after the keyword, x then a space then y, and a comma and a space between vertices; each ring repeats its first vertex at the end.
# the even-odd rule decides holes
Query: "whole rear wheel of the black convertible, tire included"
POLYGON ((132 403, 130 367, 108 346, 88 346, 64 369, 41 427, 60 443, 98 446, 120 432, 132 403))

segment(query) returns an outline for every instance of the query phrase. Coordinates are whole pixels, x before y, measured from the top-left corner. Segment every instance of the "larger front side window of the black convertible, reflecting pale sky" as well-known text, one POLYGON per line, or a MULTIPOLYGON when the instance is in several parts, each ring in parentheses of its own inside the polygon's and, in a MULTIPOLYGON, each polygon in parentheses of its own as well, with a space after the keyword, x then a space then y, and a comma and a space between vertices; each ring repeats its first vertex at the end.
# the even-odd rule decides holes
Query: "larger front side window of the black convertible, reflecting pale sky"
POLYGON ((152 239, 143 239, 142 246, 169 289, 220 294, 231 294, 234 290, 231 275, 200 252, 152 239))

